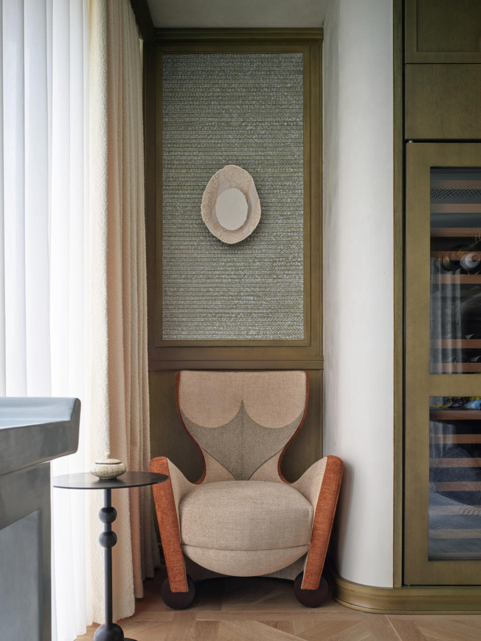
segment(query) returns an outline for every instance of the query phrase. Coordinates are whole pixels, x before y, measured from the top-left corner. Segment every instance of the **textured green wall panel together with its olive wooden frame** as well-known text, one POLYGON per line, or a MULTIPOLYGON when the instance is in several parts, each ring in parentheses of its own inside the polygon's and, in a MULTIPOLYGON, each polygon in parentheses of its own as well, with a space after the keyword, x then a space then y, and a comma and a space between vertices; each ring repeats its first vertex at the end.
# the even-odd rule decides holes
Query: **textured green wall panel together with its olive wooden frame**
POLYGON ((150 369, 322 367, 322 31, 248 31, 162 31, 146 56, 150 369), (262 207, 231 246, 200 215, 226 164, 262 207))

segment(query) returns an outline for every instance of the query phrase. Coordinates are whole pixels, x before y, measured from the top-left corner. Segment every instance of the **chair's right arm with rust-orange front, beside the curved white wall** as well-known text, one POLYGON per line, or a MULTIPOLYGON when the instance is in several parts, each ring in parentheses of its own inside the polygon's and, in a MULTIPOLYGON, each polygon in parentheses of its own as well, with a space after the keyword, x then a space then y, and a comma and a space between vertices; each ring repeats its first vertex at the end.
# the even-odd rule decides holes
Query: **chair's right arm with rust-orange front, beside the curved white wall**
POLYGON ((301 585, 303 590, 316 590, 321 580, 343 467, 344 464, 337 456, 325 456, 292 483, 292 487, 304 495, 314 508, 309 551, 301 585))

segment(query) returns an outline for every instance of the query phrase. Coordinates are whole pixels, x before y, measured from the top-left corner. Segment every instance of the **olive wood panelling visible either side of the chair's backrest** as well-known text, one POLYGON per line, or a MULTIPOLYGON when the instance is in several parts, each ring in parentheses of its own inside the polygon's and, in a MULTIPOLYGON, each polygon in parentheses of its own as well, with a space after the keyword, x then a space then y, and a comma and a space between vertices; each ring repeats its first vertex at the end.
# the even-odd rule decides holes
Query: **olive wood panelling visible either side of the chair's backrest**
MULTIPOLYGON (((282 474, 296 481, 312 463, 322 457, 322 372, 309 374, 309 401, 305 421, 286 450, 281 463, 282 474)), ((202 474, 202 461, 192 439, 187 435, 177 414, 175 372, 149 372, 151 456, 167 456, 194 483, 202 474)))

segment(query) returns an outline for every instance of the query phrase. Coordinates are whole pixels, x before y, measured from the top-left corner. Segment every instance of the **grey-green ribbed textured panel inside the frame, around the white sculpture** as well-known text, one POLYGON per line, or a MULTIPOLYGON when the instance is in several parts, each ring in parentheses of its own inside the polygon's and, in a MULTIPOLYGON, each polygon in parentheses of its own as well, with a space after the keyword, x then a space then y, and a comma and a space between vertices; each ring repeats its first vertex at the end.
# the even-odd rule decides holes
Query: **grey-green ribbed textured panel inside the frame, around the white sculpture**
POLYGON ((162 74, 162 338, 302 340, 303 54, 165 53, 162 74), (235 245, 200 212, 228 164, 262 208, 235 245))

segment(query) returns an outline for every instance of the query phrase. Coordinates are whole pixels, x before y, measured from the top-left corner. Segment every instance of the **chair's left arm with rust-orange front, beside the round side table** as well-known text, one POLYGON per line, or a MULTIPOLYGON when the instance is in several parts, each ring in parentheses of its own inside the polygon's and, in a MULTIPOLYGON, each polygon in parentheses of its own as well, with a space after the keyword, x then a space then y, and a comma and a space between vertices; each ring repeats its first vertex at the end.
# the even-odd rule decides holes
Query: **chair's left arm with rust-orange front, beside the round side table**
POLYGON ((187 481, 180 469, 165 456, 153 458, 150 471, 169 476, 164 483, 152 486, 169 587, 172 592, 189 592, 180 543, 179 504, 185 494, 196 486, 187 481))

